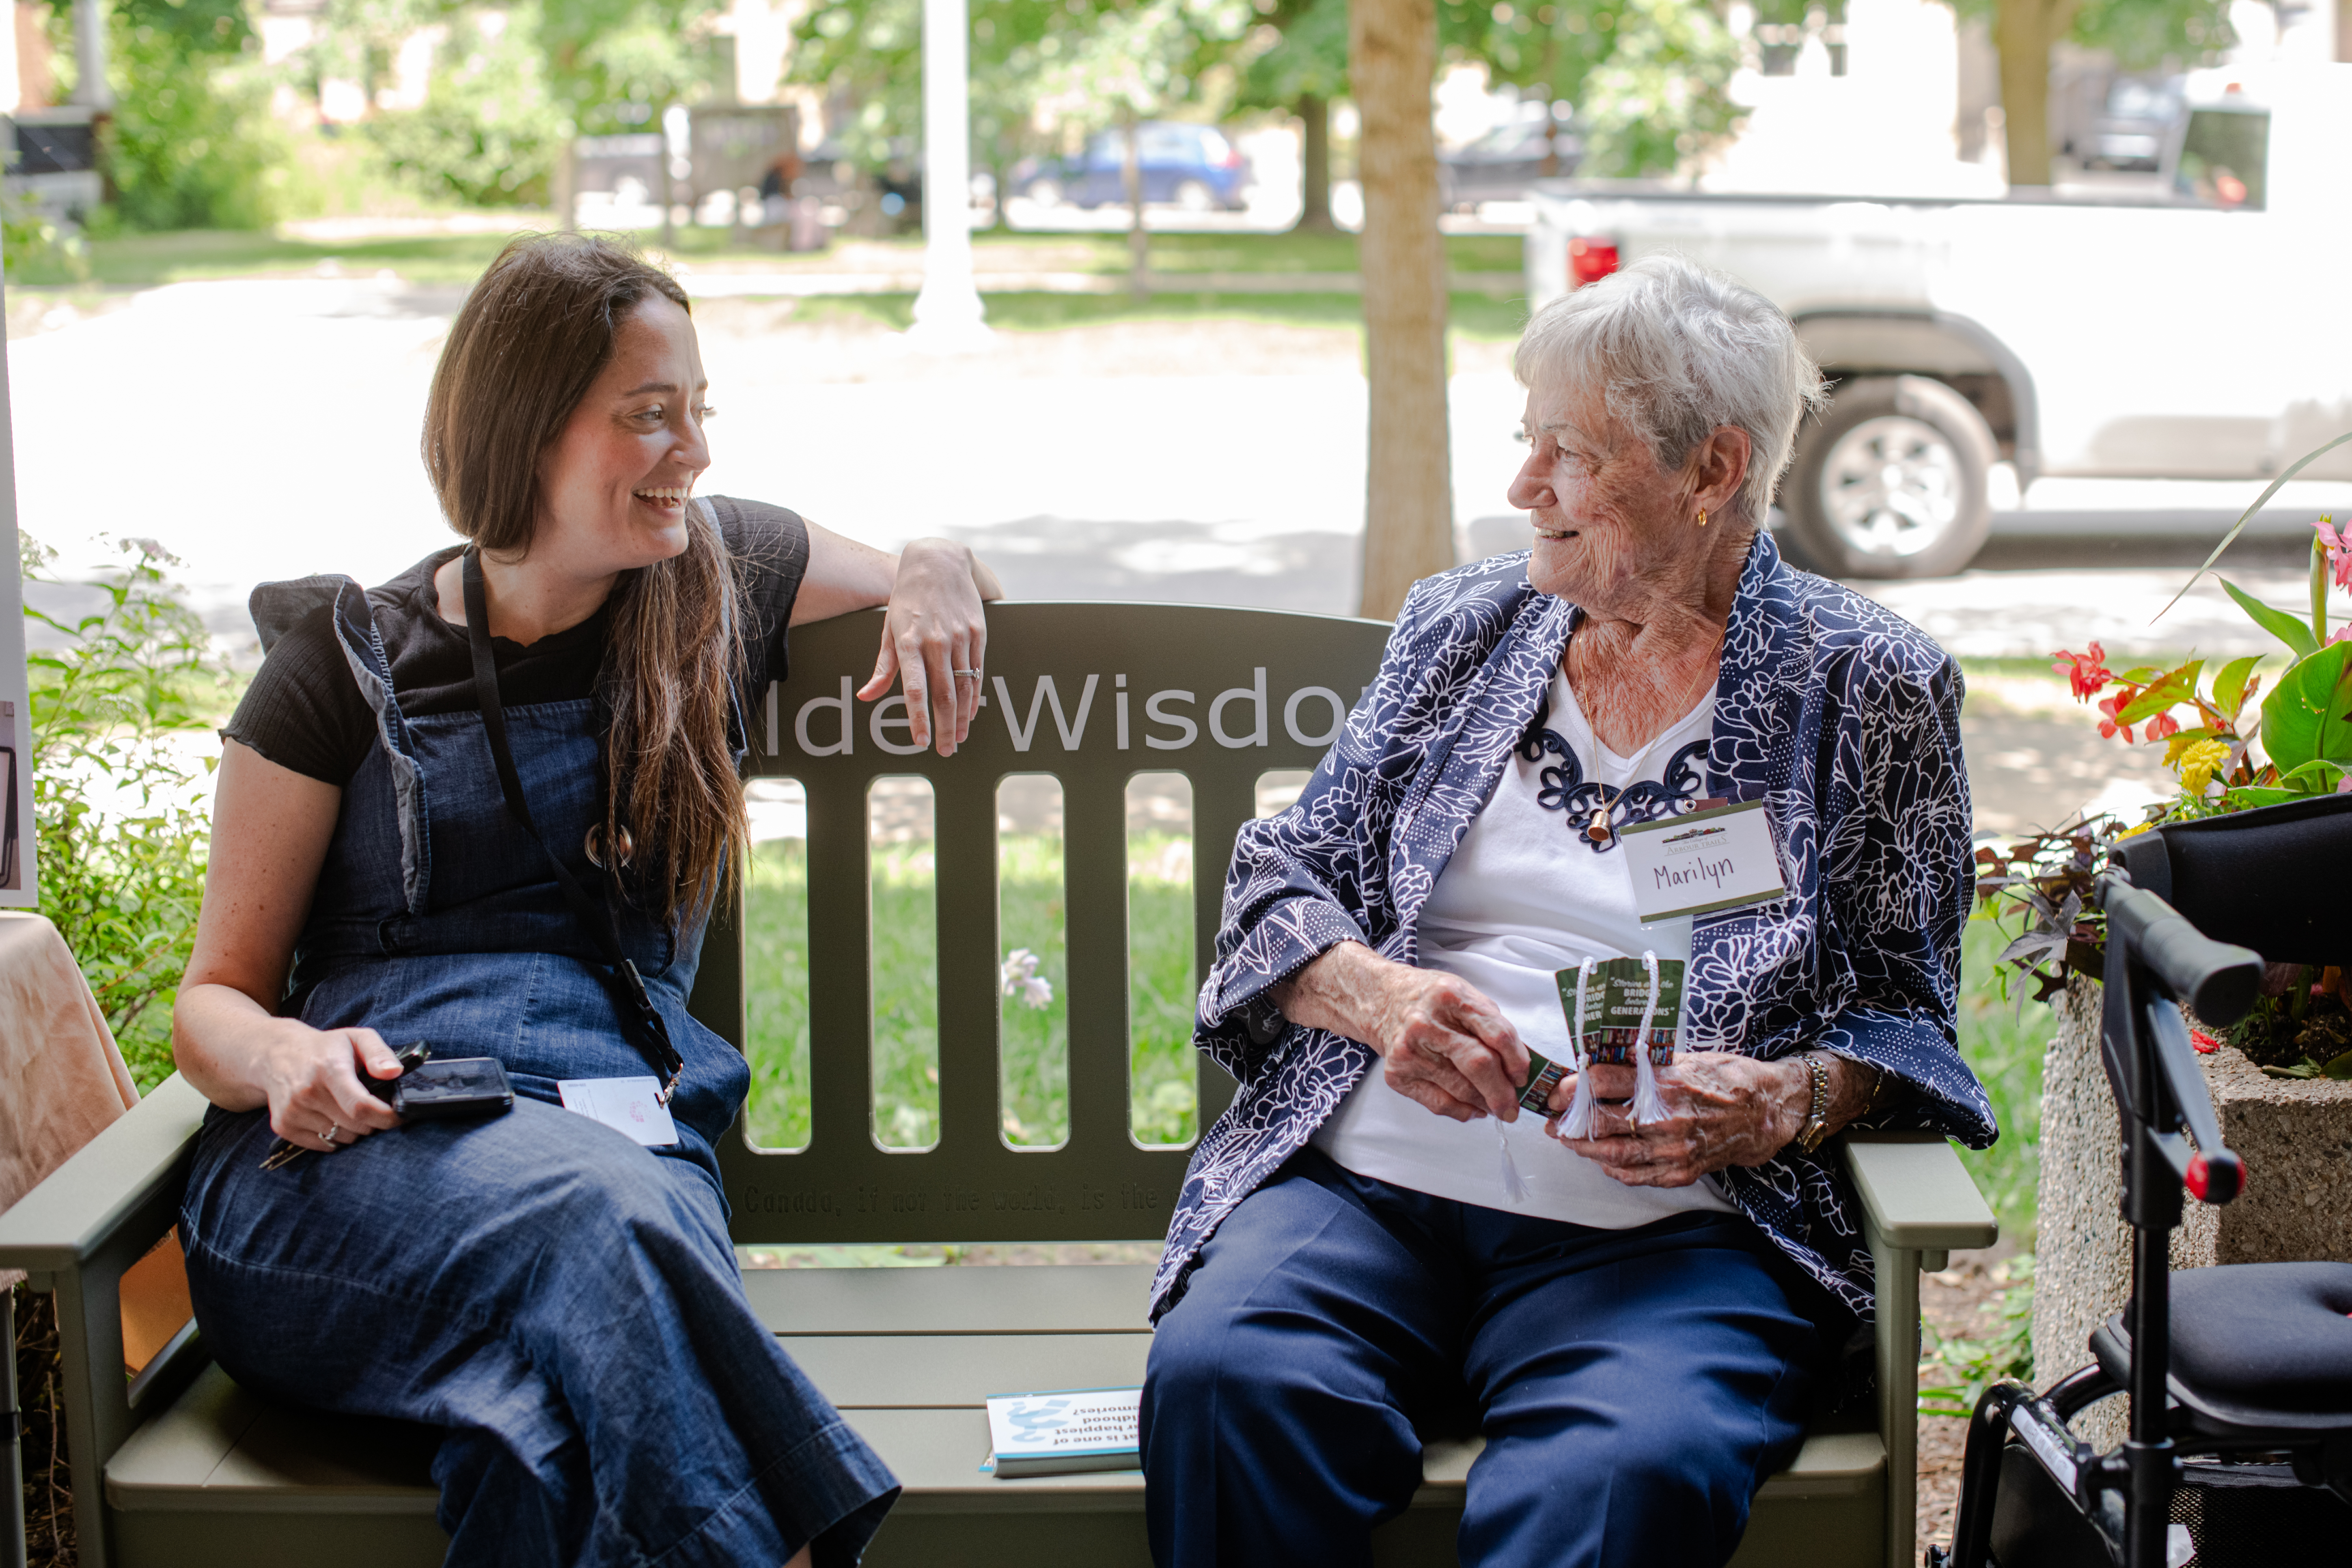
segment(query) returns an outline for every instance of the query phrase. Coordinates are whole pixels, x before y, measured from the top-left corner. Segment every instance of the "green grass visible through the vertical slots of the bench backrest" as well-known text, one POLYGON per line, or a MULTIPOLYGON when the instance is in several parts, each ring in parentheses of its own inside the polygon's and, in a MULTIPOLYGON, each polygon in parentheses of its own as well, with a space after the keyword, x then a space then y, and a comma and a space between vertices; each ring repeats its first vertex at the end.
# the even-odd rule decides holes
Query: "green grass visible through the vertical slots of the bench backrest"
MULTIPOLYGON (((1164 867, 1171 835, 1138 832, 1129 865, 1164 867)), ((1054 987, 1049 1006, 1000 999, 1000 1114, 1007 1143, 1058 1145, 1070 1135, 1068 952, 1061 839, 1000 839, 1004 952, 1028 947, 1054 987)), ((1188 856, 1183 856, 1188 860, 1188 856)), ((1190 1143, 1192 884, 1143 872, 1129 879, 1129 1124, 1143 1143, 1190 1143)), ((887 1147, 938 1138, 938 936, 924 844, 877 846, 873 860, 873 1131, 887 1147)), ((809 860, 800 839, 757 846, 746 886, 748 1056, 753 1143, 809 1143, 809 860)))

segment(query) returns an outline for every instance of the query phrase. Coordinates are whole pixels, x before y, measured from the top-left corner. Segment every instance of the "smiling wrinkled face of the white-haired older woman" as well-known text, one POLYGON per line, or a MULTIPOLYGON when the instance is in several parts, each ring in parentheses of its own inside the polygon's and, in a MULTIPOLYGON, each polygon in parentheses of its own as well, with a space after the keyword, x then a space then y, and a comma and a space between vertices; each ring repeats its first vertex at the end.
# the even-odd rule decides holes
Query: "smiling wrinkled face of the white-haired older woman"
POLYGON ((1705 543, 1691 484, 1658 468, 1635 430, 1566 386, 1526 395, 1526 463, 1510 503, 1536 529, 1526 578, 1541 592, 1606 611, 1644 581, 1670 576, 1705 543))

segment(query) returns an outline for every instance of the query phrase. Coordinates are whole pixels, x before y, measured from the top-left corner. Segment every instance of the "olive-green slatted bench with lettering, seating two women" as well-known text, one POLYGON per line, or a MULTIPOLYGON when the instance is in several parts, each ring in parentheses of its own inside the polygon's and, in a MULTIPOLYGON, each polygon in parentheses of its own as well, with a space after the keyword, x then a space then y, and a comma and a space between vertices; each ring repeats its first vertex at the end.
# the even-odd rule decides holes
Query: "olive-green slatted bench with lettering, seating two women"
MULTIPOLYGON (((1258 776, 1308 769, 1371 679, 1388 628, 1240 609, 1002 604, 990 698, 953 759, 908 755, 903 710, 854 703, 877 616, 793 635, 793 679, 753 712, 753 762, 807 790, 811 1138, 722 1150, 741 1244, 1157 1241, 1188 1152, 1129 1135, 1127 785, 1181 771, 1192 790, 1197 954, 1211 950, 1232 835, 1258 776), (1042 682, 1051 679, 1047 693, 1042 682), (1002 686, 1000 686, 1002 682, 1002 686), (1007 712, 1002 696, 1011 696, 1007 712), (847 741, 847 745, 844 745, 847 741), (823 752, 823 755, 816 755, 823 752), (936 799, 938 1143, 884 1150, 870 1041, 868 788, 915 773, 936 799), (997 783, 1063 790, 1068 1140, 1011 1147, 997 1105, 997 783)), ((741 903, 713 926, 696 1016, 746 1034, 741 903)), ((1207 1126, 1232 1084, 1200 1067, 1207 1126)), ((440 1559, 433 1434, 273 1406, 186 1331, 122 1373, 118 1284, 172 1225, 202 1098, 151 1093, 7 1215, 0 1267, 54 1291, 87 1568, 252 1568, 440 1559)), ((741 1131, 741 1128, 739 1128, 741 1131)), ((1743 1568, 1907 1568, 1919 1269, 1987 1246, 1992 1215, 1940 1140, 1849 1140, 1877 1255, 1875 1410, 1823 1420, 1757 1500, 1743 1568)), ((1145 1265, 755 1269, 753 1307, 906 1483, 870 1563, 1143 1566, 1136 1474, 995 1481, 983 1399, 1143 1380, 1145 1265)), ((1477 1441, 1432 1443, 1414 1507, 1383 1526, 1383 1563, 1451 1563, 1477 1441)))

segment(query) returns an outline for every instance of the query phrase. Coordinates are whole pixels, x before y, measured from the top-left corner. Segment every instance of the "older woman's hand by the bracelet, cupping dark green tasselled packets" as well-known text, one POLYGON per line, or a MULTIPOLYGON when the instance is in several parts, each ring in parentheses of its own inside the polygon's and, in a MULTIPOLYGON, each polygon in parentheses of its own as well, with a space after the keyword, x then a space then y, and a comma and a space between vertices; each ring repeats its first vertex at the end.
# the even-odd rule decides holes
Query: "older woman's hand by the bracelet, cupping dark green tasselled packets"
POLYGON ((1665 1121, 1632 1126, 1635 1070, 1595 1063, 1592 1138, 1559 1138, 1576 1074, 1552 1091, 1545 1131, 1628 1187, 1689 1187, 1724 1166, 1762 1166, 1804 1126, 1813 1100, 1799 1058, 1776 1063, 1733 1051, 1684 1051, 1658 1070, 1665 1121))

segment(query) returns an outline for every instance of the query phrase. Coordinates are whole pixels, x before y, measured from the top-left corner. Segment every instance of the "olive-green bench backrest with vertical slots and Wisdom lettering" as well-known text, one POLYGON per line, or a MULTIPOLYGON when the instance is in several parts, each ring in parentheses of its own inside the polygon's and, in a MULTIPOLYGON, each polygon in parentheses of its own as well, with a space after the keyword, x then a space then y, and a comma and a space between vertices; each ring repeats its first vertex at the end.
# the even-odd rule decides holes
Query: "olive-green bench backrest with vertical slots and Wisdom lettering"
MULTIPOLYGON (((880 611, 795 630, 790 677, 750 715, 750 771, 807 790, 809 1143, 760 1150, 743 1124, 724 1138, 734 1237, 1160 1239, 1190 1150, 1145 1147, 1129 1133, 1127 785, 1145 771, 1190 778, 1197 985, 1258 776, 1322 759, 1378 670, 1388 625, 1181 604, 997 604, 988 705, 950 759, 903 755, 898 698, 851 696, 873 672, 880 635, 880 611), (889 1150, 873 1133, 866 799, 875 778, 906 773, 927 778, 936 802, 938 1143, 929 1150, 889 1150), (1063 790, 1070 1131, 1051 1150, 1009 1145, 997 1105, 997 785, 1009 773, 1051 773, 1063 790)), ((713 922, 694 1013, 739 1046, 743 952, 736 893, 713 922)), ((1202 1063, 1200 1126, 1230 1095, 1232 1081, 1202 1063)))

